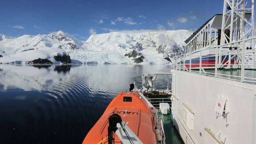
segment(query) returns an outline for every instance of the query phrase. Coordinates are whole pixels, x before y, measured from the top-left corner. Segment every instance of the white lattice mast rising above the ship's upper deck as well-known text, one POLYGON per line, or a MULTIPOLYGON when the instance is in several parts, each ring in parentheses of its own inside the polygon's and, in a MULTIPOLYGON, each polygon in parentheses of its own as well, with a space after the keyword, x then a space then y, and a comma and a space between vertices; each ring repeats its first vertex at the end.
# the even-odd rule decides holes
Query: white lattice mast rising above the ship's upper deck
MULTIPOLYGON (((218 68, 226 64, 229 69, 232 59, 235 59, 234 63, 244 62, 236 53, 245 52, 246 46, 243 47, 242 42, 230 43, 250 37, 254 37, 254 0, 224 0, 220 45, 226 46, 220 47, 218 68), (250 18, 248 14, 251 14, 250 18), (228 57, 228 62, 224 63, 223 56, 224 60, 228 57)), ((246 41, 245 45, 254 51, 254 40, 246 41)), ((254 53, 252 55, 254 65, 254 53)))

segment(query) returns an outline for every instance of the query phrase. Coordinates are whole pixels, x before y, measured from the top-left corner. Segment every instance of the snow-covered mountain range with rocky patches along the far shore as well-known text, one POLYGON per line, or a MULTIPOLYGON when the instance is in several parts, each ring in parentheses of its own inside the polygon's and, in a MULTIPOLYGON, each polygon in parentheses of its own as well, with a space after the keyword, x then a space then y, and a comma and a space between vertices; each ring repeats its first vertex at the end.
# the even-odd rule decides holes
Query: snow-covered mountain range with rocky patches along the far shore
POLYGON ((80 41, 63 31, 18 38, 0 34, 0 63, 25 64, 47 59, 60 64, 56 56, 70 56, 73 64, 168 64, 168 56, 184 52, 193 31, 174 30, 125 34, 96 34, 80 41))

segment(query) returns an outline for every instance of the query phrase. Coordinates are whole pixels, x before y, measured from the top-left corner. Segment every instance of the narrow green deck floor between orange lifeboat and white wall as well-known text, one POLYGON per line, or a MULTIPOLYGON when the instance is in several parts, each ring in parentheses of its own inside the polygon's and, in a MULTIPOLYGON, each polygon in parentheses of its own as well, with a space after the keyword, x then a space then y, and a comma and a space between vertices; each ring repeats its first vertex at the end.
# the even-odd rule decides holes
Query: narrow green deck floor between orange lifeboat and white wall
POLYGON ((171 114, 164 114, 164 133, 165 133, 165 143, 166 144, 184 144, 180 134, 173 125, 171 114))

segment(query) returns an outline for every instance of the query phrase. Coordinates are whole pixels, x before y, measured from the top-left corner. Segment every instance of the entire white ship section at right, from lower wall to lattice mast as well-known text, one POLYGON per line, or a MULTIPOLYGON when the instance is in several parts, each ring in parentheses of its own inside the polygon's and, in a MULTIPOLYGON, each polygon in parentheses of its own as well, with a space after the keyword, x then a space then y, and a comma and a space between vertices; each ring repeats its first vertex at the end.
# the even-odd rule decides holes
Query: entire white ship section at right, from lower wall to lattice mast
POLYGON ((224 0, 223 14, 186 40, 171 71, 185 144, 256 144, 255 39, 254 0, 224 0))

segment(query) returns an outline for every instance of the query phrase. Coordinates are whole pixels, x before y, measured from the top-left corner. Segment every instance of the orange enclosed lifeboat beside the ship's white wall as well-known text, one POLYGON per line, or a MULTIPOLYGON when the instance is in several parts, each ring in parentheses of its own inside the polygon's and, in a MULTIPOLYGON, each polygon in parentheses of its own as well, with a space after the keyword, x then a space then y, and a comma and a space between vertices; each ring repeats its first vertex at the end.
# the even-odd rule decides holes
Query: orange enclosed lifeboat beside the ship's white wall
POLYGON ((122 138, 117 136, 117 132, 109 133, 110 117, 117 115, 124 125, 128 125, 140 142, 143 144, 157 143, 152 113, 146 100, 139 97, 138 92, 121 92, 110 102, 98 122, 88 132, 83 144, 112 144, 112 142, 121 144, 122 138), (112 142, 108 142, 110 139, 112 142))

